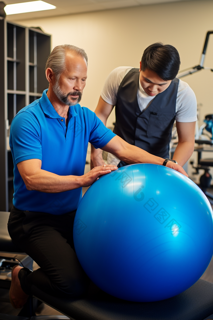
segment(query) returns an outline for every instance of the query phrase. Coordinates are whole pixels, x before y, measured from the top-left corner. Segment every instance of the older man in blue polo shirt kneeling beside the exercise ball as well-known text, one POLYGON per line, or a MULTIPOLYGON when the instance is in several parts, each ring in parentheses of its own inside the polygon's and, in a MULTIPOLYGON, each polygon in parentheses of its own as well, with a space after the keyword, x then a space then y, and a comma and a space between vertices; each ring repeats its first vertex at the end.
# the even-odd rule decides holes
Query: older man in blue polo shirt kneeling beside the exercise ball
POLYGON ((72 239, 81 187, 117 169, 105 165, 84 174, 88 142, 127 163, 164 164, 186 175, 178 164, 128 144, 95 113, 80 107, 87 79, 84 50, 57 46, 47 60, 46 77, 49 89, 19 111, 11 124, 14 206, 8 230, 15 244, 40 266, 34 272, 20 266, 12 269, 10 300, 14 308, 24 305, 32 285, 52 295, 71 297, 87 289, 88 278, 72 239))

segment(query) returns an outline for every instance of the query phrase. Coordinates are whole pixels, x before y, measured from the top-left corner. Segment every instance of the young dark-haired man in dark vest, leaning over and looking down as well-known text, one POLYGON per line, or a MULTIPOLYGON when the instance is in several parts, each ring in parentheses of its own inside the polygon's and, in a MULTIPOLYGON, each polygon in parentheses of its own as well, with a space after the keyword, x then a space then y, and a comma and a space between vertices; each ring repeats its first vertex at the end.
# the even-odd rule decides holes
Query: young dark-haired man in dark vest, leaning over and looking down
MULTIPOLYGON (((96 115, 106 125, 115 106, 114 132, 149 153, 169 158, 174 121, 178 146, 174 159, 183 166, 194 150, 197 103, 189 85, 177 78, 180 58, 171 45, 155 43, 145 49, 140 69, 118 67, 108 76, 96 115)), ((100 150, 92 147, 91 167, 102 165, 100 150)), ((109 154, 108 163, 121 167, 127 163, 109 154)))

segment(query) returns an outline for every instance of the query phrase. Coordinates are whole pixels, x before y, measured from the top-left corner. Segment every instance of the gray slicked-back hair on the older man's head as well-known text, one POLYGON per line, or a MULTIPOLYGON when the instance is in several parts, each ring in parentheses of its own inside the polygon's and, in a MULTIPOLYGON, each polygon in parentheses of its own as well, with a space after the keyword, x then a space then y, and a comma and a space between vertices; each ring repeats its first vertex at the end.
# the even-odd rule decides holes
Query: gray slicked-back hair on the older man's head
POLYGON ((46 68, 51 68, 52 71, 56 75, 56 80, 59 79, 60 75, 62 72, 65 70, 65 57, 66 57, 66 52, 71 51, 82 58, 84 58, 86 61, 88 61, 87 54, 84 51, 84 49, 80 49, 74 45, 71 44, 62 44, 62 45, 57 45, 52 52, 49 55, 49 58, 47 59, 46 62, 46 68))

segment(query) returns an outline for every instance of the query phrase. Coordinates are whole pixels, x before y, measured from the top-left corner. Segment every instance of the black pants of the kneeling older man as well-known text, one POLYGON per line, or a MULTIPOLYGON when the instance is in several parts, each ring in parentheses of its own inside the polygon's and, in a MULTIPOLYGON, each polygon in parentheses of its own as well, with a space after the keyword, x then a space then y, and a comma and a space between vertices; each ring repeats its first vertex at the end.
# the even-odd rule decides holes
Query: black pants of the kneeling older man
POLYGON ((9 234, 40 267, 33 272, 19 272, 21 287, 27 294, 32 285, 51 295, 77 297, 86 292, 89 279, 80 266, 73 244, 75 212, 52 215, 12 207, 9 234))

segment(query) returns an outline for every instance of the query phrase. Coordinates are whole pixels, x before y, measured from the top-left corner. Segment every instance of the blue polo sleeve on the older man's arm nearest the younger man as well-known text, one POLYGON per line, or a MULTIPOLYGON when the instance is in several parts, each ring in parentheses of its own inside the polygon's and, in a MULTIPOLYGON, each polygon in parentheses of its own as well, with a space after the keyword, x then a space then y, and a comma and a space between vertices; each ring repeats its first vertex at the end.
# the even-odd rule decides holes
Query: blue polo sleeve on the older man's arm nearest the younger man
POLYGON ((116 136, 110 129, 106 128, 103 122, 96 116, 95 112, 83 107, 89 120, 89 142, 97 149, 103 148, 113 137, 116 136))

